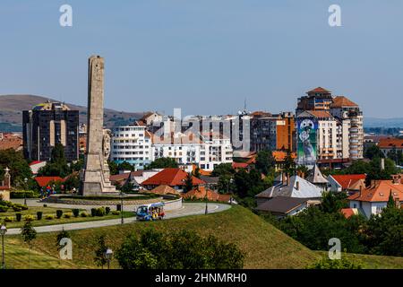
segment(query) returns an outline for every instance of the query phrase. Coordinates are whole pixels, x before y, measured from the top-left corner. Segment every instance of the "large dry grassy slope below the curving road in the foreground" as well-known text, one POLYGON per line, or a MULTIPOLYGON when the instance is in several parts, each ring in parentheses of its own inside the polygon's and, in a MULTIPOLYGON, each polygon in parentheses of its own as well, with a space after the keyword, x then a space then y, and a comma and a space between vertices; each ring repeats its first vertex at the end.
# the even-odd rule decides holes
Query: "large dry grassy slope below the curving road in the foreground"
MULTIPOLYGON (((150 227, 166 232, 182 229, 195 230, 203 236, 214 234, 221 240, 234 242, 246 254, 245 268, 304 268, 322 256, 322 253, 305 248, 249 210, 235 206, 223 213, 188 216, 162 222, 139 222, 125 224, 124 226, 71 231, 73 263, 64 263, 60 266, 60 262, 56 258, 58 254, 56 234, 39 234, 38 239, 34 242, 36 264, 38 267, 97 268, 93 263, 93 255, 97 248, 96 239, 99 235, 105 234, 107 245, 116 250, 127 234, 130 232, 138 233, 140 230, 150 227), (39 260, 40 256, 42 256, 42 260, 39 260)), ((21 257, 11 256, 12 252, 21 255, 23 245, 20 237, 7 237, 6 240, 7 260, 15 268, 24 267, 25 265, 21 264, 21 257)), ((366 257, 366 260, 374 262, 371 257, 366 257)), ((388 261, 390 265, 382 266, 384 260, 378 258, 375 261, 379 262, 380 265, 375 263, 373 266, 388 268, 392 265, 403 265, 403 258, 396 260, 388 261)), ((117 267, 117 263, 113 262, 112 266, 117 267)), ((31 267, 34 265, 32 264, 31 267)))

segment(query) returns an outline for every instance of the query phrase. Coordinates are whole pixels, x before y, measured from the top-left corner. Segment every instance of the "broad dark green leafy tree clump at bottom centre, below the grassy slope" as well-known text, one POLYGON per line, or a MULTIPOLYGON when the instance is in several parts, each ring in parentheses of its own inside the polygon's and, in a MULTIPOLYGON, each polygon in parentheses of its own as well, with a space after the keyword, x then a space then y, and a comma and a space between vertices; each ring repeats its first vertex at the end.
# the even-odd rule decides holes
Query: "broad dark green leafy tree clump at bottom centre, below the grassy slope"
POLYGON ((131 234, 116 251, 123 269, 239 269, 244 253, 235 244, 214 236, 202 238, 194 231, 171 234, 142 230, 131 234), (194 244, 197 242, 197 244, 194 244))

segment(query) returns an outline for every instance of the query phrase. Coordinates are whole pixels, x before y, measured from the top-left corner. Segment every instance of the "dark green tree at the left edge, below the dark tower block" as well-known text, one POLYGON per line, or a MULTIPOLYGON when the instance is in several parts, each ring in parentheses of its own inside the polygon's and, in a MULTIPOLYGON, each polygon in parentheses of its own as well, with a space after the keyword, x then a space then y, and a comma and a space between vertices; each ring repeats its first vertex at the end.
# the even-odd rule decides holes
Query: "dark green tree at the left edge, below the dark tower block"
POLYGON ((27 161, 25 161, 21 152, 15 152, 13 149, 0 151, 0 180, 4 178, 4 169, 10 169, 11 181, 13 186, 24 187, 24 179, 29 179, 29 186, 32 186, 35 180, 32 179, 32 171, 27 161))

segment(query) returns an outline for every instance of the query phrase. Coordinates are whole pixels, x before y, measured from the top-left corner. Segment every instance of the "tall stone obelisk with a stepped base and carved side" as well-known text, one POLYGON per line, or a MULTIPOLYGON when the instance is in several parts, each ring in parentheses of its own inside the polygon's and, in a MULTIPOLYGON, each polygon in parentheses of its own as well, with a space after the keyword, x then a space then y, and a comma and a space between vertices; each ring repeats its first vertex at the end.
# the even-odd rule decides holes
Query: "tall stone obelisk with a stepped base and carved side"
POLYGON ((116 194, 109 180, 107 158, 110 152, 110 134, 104 126, 104 58, 92 56, 88 74, 87 154, 82 172, 82 196, 116 194))

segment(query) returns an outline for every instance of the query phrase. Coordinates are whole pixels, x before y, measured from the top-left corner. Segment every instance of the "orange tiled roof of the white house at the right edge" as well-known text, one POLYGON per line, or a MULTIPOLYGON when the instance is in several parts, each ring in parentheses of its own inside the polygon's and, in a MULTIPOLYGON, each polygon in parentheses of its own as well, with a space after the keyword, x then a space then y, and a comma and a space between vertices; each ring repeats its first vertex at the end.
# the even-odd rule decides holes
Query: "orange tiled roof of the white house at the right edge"
POLYGON ((352 196, 348 196, 348 200, 364 201, 364 202, 387 202, 390 192, 396 200, 403 199, 403 184, 394 184, 391 180, 379 180, 372 187, 365 188, 361 194, 357 192, 352 196))

